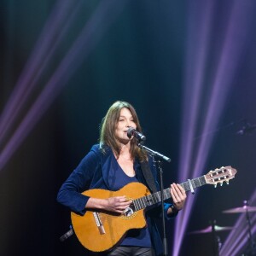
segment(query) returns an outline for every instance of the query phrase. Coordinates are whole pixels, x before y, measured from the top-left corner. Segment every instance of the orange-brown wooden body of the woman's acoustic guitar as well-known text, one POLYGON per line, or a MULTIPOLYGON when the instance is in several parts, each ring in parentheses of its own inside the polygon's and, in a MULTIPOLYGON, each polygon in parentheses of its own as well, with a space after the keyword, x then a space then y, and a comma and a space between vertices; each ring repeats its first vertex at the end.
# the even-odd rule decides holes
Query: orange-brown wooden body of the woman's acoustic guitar
MULTIPOLYGON (((118 191, 90 189, 82 194, 101 199, 125 195, 128 200, 134 200, 150 195, 150 192, 143 183, 129 183, 118 191)), ((142 229, 146 226, 143 209, 130 212, 128 215, 89 210, 81 216, 71 212, 71 218, 73 230, 79 241, 92 252, 106 251, 114 247, 128 230, 142 229)))

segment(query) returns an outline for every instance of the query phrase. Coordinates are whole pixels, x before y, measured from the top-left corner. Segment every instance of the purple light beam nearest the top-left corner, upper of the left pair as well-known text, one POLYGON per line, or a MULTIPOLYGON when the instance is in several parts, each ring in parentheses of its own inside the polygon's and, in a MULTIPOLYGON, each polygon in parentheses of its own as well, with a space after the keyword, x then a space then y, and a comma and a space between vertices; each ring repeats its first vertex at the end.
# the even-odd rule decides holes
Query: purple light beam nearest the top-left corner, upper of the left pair
POLYGON ((63 38, 63 31, 67 31, 70 23, 69 20, 72 20, 70 16, 73 17, 76 13, 73 12, 73 15, 70 15, 73 6, 75 5, 73 1, 70 0, 60 0, 55 4, 49 16, 49 20, 38 38, 38 43, 34 47, 30 59, 27 61, 26 67, 24 67, 20 75, 20 79, 15 85, 15 89, 3 109, 3 113, 0 117, 0 145, 6 138, 7 132, 12 125, 15 124, 15 120, 19 117, 20 111, 24 108, 28 98, 32 95, 33 89, 37 86, 36 83, 40 75, 44 72, 44 68, 49 63, 56 47, 63 38))

